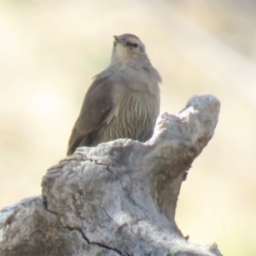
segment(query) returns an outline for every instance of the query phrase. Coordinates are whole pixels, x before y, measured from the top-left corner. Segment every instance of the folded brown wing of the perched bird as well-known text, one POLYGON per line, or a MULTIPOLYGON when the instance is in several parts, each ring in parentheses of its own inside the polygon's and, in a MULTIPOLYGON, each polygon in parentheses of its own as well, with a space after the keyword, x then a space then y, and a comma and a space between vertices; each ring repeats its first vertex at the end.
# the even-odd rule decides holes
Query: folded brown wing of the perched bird
POLYGON ((79 146, 91 146, 96 140, 102 124, 113 109, 111 73, 101 73, 90 85, 71 137, 67 155, 73 154, 79 146))

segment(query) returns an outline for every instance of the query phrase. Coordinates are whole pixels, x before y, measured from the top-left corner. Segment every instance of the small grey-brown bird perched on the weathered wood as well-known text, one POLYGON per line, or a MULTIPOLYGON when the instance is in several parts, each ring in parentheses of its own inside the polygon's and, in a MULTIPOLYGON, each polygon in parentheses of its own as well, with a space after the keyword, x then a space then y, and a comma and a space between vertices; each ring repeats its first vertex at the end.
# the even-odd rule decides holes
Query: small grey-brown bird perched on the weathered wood
POLYGON ((136 35, 113 36, 108 67, 98 73, 68 141, 67 155, 119 138, 146 142, 160 113, 160 73, 136 35))

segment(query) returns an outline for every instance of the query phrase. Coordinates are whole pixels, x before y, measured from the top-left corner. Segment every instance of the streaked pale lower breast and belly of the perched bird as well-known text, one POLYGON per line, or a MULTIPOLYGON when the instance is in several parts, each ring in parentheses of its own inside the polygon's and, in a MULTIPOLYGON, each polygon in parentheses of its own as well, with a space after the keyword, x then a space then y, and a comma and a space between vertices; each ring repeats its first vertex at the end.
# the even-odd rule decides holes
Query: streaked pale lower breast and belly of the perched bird
POLYGON ((124 89, 113 96, 113 111, 107 119, 104 137, 147 141, 159 115, 159 97, 148 92, 124 89))

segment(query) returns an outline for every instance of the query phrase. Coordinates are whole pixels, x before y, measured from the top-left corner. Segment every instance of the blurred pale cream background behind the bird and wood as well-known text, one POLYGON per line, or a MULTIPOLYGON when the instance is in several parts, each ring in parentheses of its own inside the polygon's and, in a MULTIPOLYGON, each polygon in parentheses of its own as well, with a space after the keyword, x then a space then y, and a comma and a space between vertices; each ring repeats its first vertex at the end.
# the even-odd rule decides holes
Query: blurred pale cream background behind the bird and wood
POLYGON ((224 255, 256 255, 254 0, 0 1, 0 208, 39 195, 113 35, 131 32, 163 78, 161 112, 191 96, 222 103, 181 189, 177 225, 224 255))

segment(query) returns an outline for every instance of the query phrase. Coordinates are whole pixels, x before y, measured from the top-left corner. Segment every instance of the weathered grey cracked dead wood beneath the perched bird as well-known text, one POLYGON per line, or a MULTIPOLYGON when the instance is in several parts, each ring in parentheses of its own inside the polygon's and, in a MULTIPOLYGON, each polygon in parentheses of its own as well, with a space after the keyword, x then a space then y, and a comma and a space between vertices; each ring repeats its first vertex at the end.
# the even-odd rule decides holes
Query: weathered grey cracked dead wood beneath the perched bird
POLYGON ((42 196, 0 212, 0 255, 222 255, 189 243, 175 222, 177 196, 218 123, 215 96, 163 113, 147 143, 119 139, 49 168, 42 196))

